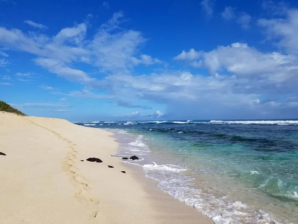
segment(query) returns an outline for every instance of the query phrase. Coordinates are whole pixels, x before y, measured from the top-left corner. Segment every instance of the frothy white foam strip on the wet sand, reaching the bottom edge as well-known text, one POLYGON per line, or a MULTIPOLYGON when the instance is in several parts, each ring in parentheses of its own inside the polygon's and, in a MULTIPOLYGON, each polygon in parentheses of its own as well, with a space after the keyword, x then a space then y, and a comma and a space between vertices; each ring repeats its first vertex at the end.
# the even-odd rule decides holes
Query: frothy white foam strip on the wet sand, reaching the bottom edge
POLYGON ((190 205, 209 217, 215 224, 280 224, 269 214, 261 210, 253 210, 239 201, 228 201, 226 196, 217 198, 212 194, 206 194, 198 188, 194 188, 187 176, 179 172, 172 172, 172 176, 155 176, 152 178, 160 180, 158 187, 172 197, 190 205))

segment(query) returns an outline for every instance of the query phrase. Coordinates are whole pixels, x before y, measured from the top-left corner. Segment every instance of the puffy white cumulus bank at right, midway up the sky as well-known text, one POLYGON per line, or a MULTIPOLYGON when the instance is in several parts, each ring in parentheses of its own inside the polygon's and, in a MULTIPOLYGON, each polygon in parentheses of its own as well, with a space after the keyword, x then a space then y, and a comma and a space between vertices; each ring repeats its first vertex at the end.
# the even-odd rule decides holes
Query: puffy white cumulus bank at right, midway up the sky
POLYGON ((281 83, 293 78, 298 69, 296 56, 279 52, 263 53, 246 43, 218 46, 201 55, 201 62, 211 74, 226 70, 239 77, 263 77, 281 83))

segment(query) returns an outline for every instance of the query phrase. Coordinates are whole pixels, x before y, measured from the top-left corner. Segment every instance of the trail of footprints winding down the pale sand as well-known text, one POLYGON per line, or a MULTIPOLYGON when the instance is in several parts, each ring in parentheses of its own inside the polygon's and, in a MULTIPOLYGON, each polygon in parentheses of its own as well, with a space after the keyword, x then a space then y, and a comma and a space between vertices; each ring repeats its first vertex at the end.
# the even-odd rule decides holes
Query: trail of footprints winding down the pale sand
MULTIPOLYGON (((72 181, 75 183, 75 185, 78 187, 75 191, 75 196, 78 198, 78 200, 82 203, 86 203, 88 206, 94 207, 99 204, 99 200, 87 197, 87 192, 91 190, 91 188, 88 186, 87 181, 85 178, 77 173, 77 168, 74 166, 74 159, 77 156, 77 147, 76 144, 74 144, 71 140, 62 137, 58 132, 53 131, 47 127, 44 127, 42 125, 39 125, 31 120, 28 120, 30 123, 39 126, 43 129, 46 129, 53 134, 55 134, 58 138, 68 143, 68 147, 70 151, 68 152, 66 158, 63 161, 63 169, 67 171, 67 173, 70 175, 72 181)), ((91 208, 90 208, 91 209, 91 208)), ((94 209, 94 208, 93 208, 94 209)), ((97 210, 94 210, 90 218, 96 218, 97 210)))

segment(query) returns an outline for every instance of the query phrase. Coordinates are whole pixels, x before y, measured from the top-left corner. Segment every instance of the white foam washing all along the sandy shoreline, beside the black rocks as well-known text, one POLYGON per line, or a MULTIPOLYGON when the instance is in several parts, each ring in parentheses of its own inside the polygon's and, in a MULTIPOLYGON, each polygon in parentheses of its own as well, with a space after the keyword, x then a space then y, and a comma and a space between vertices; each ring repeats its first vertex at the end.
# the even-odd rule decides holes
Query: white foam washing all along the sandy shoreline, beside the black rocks
MULTIPOLYGON (((127 136, 136 136, 130 134, 127 136)), ((148 146, 143 142, 145 139, 143 135, 138 135, 132 142, 125 144, 122 153, 131 155, 135 152, 137 155, 148 150, 148 146)), ((130 138, 131 139, 131 138, 130 138)), ((258 223, 279 224, 269 214, 249 208, 246 204, 239 201, 229 201, 226 196, 217 197, 213 194, 206 193, 194 186, 194 179, 185 175, 185 167, 180 167, 172 164, 159 165, 155 162, 146 162, 151 155, 144 156, 143 162, 140 161, 126 161, 143 164, 143 169, 146 176, 158 180, 158 187, 167 192, 172 197, 183 201, 185 204, 193 206, 201 213, 208 216, 215 224, 240 224, 240 223, 258 223), (144 164, 146 162, 147 164, 144 164), (149 163, 149 164, 148 164, 149 163)), ((150 160, 152 161, 152 160, 150 160)), ((157 161, 157 160, 155 160, 157 161)), ((256 174, 257 171, 250 173, 256 174)))

